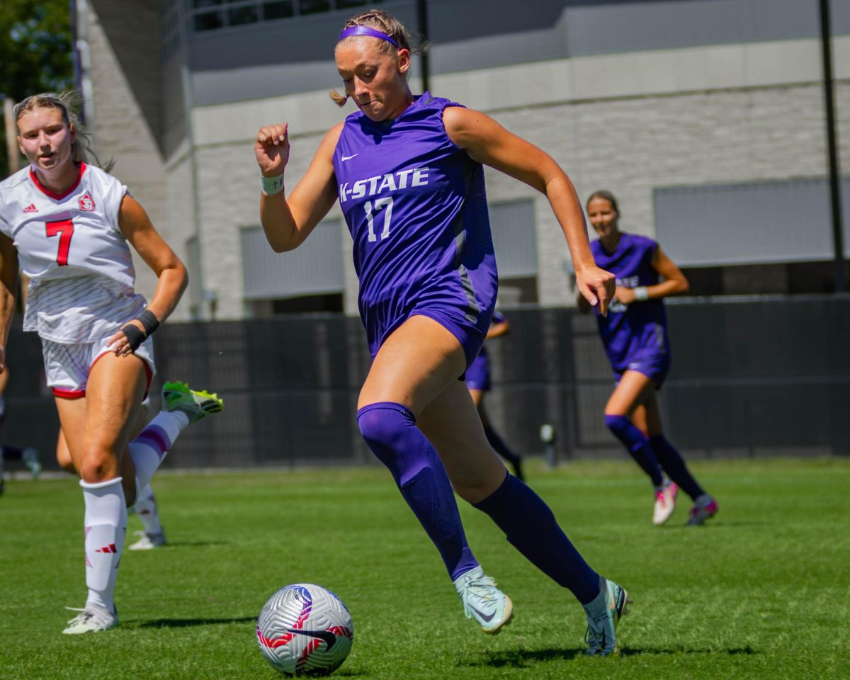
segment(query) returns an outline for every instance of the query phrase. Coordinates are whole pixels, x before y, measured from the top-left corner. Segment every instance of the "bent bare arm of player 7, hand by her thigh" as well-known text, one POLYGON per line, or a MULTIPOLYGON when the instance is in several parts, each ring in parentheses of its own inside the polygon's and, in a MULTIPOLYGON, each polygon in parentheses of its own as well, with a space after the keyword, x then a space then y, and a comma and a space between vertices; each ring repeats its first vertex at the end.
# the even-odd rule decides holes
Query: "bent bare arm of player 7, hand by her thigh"
MULTIPOLYGON (((186 274, 184 263, 157 233, 147 212, 144 212, 139 201, 136 201, 131 195, 125 195, 121 201, 118 225, 127 242, 133 246, 144 263, 156 274, 156 290, 147 309, 161 323, 177 307, 177 303, 186 289, 189 277, 186 274)), ((139 328, 140 331, 145 330, 144 325, 139 320, 134 319, 130 323, 139 328)), ((109 342, 114 345, 116 354, 130 354, 133 351, 128 338, 122 331, 118 331, 110 337, 109 342)))

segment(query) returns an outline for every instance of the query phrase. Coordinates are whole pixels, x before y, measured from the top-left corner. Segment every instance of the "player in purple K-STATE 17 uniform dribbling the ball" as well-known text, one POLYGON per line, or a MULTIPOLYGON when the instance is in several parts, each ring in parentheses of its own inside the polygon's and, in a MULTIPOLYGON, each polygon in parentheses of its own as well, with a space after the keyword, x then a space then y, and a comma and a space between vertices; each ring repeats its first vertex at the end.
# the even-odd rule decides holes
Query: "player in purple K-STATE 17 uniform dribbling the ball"
POLYGON ((288 195, 286 123, 258 132, 269 244, 275 252, 299 246, 338 199, 354 239, 360 314, 374 358, 360 390, 360 432, 439 550, 467 617, 496 633, 513 604, 467 546, 452 484, 526 558, 570 588, 587 612, 589 651, 609 654, 626 592, 592 570, 541 498, 507 473, 462 382, 496 301, 482 163, 547 195, 578 285, 604 313, 614 278, 593 264, 570 179, 488 116, 428 93, 414 97, 407 33, 390 15, 372 10, 348 20, 335 57, 345 96, 331 96, 340 104, 354 99, 359 111, 331 128, 288 195))

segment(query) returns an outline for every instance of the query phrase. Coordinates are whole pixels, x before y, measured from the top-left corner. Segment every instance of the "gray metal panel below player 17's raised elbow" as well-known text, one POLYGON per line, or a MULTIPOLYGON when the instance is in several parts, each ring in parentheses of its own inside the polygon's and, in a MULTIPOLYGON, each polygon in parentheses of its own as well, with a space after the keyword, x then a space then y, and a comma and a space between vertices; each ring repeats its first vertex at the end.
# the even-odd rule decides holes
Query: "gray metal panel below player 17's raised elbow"
POLYGON ((343 292, 343 242, 338 219, 326 219, 292 252, 274 252, 262 227, 241 229, 246 300, 343 292))

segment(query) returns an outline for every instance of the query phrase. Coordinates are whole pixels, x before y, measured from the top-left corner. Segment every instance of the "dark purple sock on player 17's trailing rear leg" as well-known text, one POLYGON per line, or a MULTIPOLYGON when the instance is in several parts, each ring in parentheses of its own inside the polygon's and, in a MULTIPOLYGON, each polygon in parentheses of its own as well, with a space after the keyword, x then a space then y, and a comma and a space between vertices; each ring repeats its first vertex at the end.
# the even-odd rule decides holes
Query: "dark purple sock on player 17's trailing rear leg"
POLYGON ((570 588, 581 604, 599 594, 599 575, 581 557, 546 502, 507 474, 483 501, 473 503, 505 532, 507 541, 559 586, 570 588))

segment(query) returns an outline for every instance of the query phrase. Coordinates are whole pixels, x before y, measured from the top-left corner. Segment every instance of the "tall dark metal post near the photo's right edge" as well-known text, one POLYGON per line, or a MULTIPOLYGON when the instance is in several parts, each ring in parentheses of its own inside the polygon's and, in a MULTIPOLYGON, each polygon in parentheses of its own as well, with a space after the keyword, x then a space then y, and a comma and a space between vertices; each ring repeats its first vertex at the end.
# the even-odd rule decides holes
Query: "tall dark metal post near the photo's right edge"
POLYGON ((830 203, 832 207, 832 247, 835 251, 836 292, 847 291, 844 269, 844 235, 842 231, 842 185, 838 171, 838 132, 836 130, 835 96, 832 88, 832 34, 830 0, 820 0, 820 48, 824 61, 824 99, 826 111, 826 145, 830 165, 830 203))

